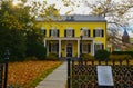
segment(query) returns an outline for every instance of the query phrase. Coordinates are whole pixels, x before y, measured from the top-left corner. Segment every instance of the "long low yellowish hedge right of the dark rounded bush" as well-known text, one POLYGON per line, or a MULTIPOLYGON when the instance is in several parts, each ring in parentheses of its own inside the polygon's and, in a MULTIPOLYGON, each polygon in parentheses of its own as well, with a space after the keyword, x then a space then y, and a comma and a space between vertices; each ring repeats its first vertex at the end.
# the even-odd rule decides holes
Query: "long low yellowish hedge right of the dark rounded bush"
POLYGON ((110 60, 127 60, 132 59, 130 55, 110 55, 110 60))

